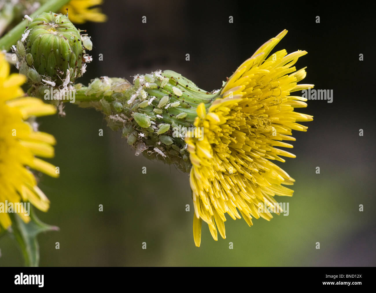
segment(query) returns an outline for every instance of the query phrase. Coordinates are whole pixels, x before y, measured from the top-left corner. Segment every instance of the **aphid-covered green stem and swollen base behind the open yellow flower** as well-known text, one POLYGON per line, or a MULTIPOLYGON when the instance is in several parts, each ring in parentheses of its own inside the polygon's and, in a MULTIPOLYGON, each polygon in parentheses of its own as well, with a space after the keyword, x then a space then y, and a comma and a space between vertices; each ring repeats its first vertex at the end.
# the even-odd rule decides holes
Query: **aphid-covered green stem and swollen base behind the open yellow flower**
POLYGON ((208 109, 221 98, 220 90, 202 90, 171 70, 138 75, 133 85, 122 78, 102 76, 87 87, 76 84, 74 88, 74 102, 102 111, 108 127, 121 130, 136 156, 142 153, 184 172, 191 169, 185 138, 201 139, 203 135, 202 128, 194 127, 197 107, 203 103, 208 109))

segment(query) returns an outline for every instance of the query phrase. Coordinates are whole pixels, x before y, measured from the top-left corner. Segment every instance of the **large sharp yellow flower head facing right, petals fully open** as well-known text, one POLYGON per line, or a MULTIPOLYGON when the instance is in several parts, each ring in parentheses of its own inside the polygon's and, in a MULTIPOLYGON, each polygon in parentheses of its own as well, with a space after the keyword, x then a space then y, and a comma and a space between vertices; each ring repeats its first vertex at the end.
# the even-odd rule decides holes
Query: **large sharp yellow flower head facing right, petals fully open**
POLYGON ((290 93, 313 85, 297 85, 306 72, 293 66, 306 51, 287 55, 280 50, 268 57, 286 34, 282 31, 241 64, 222 89, 223 98, 216 99, 208 111, 204 104, 197 108, 194 126, 202 136, 185 139, 192 163, 196 246, 201 242, 202 220, 215 240, 217 228, 226 238, 226 213, 234 220, 242 215, 251 226, 252 217, 272 218, 270 212, 259 211, 261 204, 277 204, 274 195, 293 195, 282 184, 293 185, 294 179, 272 160, 295 157, 278 147, 292 148, 282 140, 295 140, 292 130, 307 130, 296 122, 312 121, 312 116, 294 111, 306 107, 306 99, 290 93))

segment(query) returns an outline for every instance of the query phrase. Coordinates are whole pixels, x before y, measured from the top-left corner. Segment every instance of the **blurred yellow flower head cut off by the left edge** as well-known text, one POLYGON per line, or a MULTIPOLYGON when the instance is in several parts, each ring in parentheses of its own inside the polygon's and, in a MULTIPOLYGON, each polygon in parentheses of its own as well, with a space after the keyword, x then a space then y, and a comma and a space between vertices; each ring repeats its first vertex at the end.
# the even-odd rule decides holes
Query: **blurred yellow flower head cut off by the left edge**
MULTIPOLYGON (((41 211, 47 211, 49 200, 38 188, 29 168, 58 176, 55 166, 36 157, 53 157, 55 138, 35 131, 27 119, 53 114, 56 109, 40 99, 20 98, 23 95, 20 86, 26 77, 9 72, 9 64, 0 53, 0 203, 4 208, 6 201, 13 204, 29 201, 41 211)), ((25 222, 30 220, 24 213, 18 215, 25 222)), ((10 225, 9 214, 0 210, 0 229, 10 225)))

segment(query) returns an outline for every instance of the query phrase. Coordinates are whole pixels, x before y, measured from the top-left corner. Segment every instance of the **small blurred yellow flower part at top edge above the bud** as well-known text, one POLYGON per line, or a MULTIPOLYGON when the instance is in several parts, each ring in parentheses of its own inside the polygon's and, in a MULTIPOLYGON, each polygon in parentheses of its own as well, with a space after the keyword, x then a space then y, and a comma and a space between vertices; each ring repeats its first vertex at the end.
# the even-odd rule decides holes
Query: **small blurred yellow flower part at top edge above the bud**
POLYGON ((68 9, 68 17, 74 23, 105 22, 107 16, 102 13, 100 8, 91 8, 102 3, 103 0, 71 0, 61 8, 61 13, 66 14, 68 9))

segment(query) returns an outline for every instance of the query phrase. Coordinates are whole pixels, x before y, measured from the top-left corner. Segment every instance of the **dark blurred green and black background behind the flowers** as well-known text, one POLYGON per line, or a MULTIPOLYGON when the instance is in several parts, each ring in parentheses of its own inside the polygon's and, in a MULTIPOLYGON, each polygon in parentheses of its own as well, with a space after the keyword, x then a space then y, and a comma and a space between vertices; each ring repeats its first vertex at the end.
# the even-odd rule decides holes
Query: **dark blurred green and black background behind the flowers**
MULTIPOLYGON (((218 235, 218 241, 203 224, 197 248, 188 174, 136 157, 101 113, 68 104, 65 118, 39 119, 40 129, 58 141, 50 162, 61 171, 59 179, 43 176, 39 184, 51 207, 38 217, 60 227, 38 237, 41 266, 375 265, 373 15, 358 2, 239 3, 107 0, 106 23, 77 26, 87 29, 94 44, 93 61, 79 82, 98 76, 132 81, 136 73, 171 69, 211 91, 265 41, 288 29, 275 50, 307 50, 296 64, 308 67, 300 83, 334 95, 332 103, 308 101, 302 112, 314 121, 305 124, 308 132, 293 133, 296 159, 279 163, 296 179, 293 197, 277 197, 290 203, 290 215, 254 220, 252 227, 227 217, 227 238, 218 235)), ((1 266, 23 265, 14 240, 3 237, 0 249, 1 266)))

